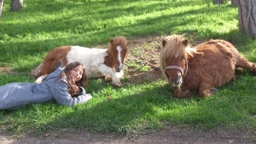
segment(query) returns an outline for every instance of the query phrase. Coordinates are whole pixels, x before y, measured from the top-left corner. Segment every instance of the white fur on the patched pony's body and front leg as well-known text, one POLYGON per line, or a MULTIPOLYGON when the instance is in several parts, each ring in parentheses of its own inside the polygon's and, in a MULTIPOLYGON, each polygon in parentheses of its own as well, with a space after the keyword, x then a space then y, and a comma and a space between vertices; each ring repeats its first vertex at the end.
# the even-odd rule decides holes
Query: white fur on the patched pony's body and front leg
MULTIPOLYGON (((119 46, 119 48, 121 47, 119 46)), ((120 83, 115 71, 104 64, 104 57, 107 55, 106 49, 72 46, 67 54, 67 61, 68 64, 75 61, 82 63, 86 68, 88 77, 111 76, 113 84, 120 83)))

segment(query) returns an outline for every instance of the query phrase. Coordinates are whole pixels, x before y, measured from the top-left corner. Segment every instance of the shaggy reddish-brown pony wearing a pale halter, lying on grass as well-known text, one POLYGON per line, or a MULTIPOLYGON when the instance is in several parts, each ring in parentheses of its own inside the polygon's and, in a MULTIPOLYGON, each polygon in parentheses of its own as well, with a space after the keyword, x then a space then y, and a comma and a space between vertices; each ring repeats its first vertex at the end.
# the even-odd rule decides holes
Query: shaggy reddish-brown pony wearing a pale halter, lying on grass
POLYGON ((174 97, 186 98, 197 92, 210 97, 220 87, 234 80, 235 69, 245 68, 256 74, 256 65, 224 40, 210 40, 189 48, 183 35, 167 36, 160 52, 160 68, 174 90, 174 97))

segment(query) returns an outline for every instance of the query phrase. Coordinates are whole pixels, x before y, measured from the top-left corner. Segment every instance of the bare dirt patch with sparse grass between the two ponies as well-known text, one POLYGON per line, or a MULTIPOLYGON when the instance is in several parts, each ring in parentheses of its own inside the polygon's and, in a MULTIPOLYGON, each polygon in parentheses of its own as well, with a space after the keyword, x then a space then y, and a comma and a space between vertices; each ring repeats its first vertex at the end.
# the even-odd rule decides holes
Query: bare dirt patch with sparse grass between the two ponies
POLYGON ((162 71, 159 68, 159 52, 163 38, 164 36, 156 35, 141 36, 129 45, 126 59, 131 63, 139 61, 142 66, 150 66, 146 72, 135 70, 133 73, 127 73, 126 76, 130 84, 143 83, 144 81, 156 82, 163 78, 162 71))

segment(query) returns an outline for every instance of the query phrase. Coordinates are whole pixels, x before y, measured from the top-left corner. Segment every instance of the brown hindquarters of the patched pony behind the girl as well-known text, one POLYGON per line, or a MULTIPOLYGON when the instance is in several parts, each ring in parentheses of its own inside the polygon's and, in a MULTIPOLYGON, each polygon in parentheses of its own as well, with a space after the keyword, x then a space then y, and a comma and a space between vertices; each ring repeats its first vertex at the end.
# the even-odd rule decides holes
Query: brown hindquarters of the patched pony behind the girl
POLYGON ((44 62, 42 62, 36 69, 31 70, 30 74, 35 78, 46 74, 48 75, 54 70, 59 61, 61 61, 61 67, 66 66, 66 55, 70 51, 71 47, 72 46, 61 46, 51 50, 51 52, 44 58, 44 62), (40 72, 38 73, 38 71, 40 72))

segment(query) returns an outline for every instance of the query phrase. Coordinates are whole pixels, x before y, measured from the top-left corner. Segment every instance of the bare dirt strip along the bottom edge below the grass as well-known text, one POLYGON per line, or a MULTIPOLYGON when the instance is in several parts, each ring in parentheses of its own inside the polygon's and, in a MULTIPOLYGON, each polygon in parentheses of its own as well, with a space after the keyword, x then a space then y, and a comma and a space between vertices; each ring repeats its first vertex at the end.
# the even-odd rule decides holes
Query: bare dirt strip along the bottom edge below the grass
MULTIPOLYGON (((65 130, 64 130, 65 131, 65 130)), ((93 133, 88 131, 49 131, 39 137, 31 137, 25 134, 22 138, 14 138, 13 136, 0 133, 0 143, 2 144, 84 144, 84 143, 173 143, 173 144, 240 144, 240 143, 256 143, 255 131, 239 130, 233 133, 224 129, 214 130, 210 132, 201 132, 187 129, 179 126, 166 126, 161 131, 140 132, 140 134, 120 135, 116 133, 93 133)))

